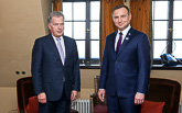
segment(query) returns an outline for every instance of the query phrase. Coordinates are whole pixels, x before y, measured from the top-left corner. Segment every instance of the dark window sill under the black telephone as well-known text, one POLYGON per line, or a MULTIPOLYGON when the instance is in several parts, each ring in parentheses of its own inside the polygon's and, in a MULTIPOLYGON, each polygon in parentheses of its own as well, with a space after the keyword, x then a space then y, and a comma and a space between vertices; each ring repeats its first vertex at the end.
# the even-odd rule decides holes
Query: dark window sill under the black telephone
POLYGON ((152 70, 182 70, 182 65, 175 66, 163 66, 163 65, 152 65, 152 70))

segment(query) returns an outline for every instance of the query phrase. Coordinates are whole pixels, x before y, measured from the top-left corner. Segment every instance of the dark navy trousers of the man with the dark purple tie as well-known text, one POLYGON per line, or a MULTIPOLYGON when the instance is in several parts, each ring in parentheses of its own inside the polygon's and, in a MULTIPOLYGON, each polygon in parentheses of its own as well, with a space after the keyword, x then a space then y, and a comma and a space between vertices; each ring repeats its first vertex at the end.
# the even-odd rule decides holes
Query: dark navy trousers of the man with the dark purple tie
POLYGON ((135 104, 135 98, 119 98, 107 95, 108 113, 140 113, 141 105, 135 104))

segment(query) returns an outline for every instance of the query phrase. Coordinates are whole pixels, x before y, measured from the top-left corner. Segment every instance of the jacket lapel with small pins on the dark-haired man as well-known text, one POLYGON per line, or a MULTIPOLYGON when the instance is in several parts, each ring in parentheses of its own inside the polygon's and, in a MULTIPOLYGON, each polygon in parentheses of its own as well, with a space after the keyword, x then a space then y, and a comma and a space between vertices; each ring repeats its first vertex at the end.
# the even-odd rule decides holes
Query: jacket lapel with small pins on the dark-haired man
MULTIPOLYGON (((127 33, 127 35, 126 35, 126 37, 125 37, 125 39, 124 39, 124 43, 121 44, 121 46, 120 46, 120 48, 119 48, 118 55, 126 48, 126 46, 128 45, 128 43, 129 43, 130 39, 132 38, 133 31, 135 31, 135 30, 133 30, 132 27, 128 31, 128 33, 127 33)), ((117 56, 118 56, 118 55, 117 55, 117 56)))

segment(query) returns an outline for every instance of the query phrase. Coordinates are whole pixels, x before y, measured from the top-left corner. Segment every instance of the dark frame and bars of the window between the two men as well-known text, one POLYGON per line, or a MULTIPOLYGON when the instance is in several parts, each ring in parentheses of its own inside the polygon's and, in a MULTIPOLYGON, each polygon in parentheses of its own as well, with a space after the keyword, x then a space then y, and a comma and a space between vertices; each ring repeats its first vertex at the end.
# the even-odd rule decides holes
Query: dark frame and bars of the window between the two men
MULTIPOLYGON (((63 0, 63 2, 86 2, 86 30, 88 29, 88 31, 85 31, 85 39, 76 39, 75 41, 85 41, 85 59, 79 59, 79 66, 83 68, 99 68, 100 67, 100 15, 99 15, 99 20, 97 21, 92 21, 90 20, 90 1, 100 1, 100 0, 63 0), (90 38, 90 22, 99 22, 99 38, 98 39, 92 39, 90 38), (92 41, 98 41, 99 42, 99 57, 97 58, 90 58, 90 53, 92 53, 92 41)), ((72 3, 73 4, 73 3, 72 3)), ((73 10, 73 9, 72 9, 73 10)), ((72 11, 73 12, 73 11, 72 11)), ((72 13, 74 14, 74 13, 72 13)), ((83 21, 74 21, 74 19, 72 19, 71 21, 66 21, 65 22, 83 22, 83 21)), ((73 24, 73 23, 72 23, 73 24)), ((72 31, 74 30, 74 27, 72 27, 72 31)), ((73 36, 73 35, 72 35, 73 36)))

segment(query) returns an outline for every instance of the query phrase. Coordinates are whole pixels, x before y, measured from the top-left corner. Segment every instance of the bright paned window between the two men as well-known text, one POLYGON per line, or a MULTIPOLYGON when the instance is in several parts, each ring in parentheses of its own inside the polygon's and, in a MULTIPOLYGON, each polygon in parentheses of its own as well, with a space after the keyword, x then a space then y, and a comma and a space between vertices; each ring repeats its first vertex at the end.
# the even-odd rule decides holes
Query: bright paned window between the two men
POLYGON ((76 39, 79 65, 98 66, 100 57, 100 1, 63 0, 64 35, 76 39))

